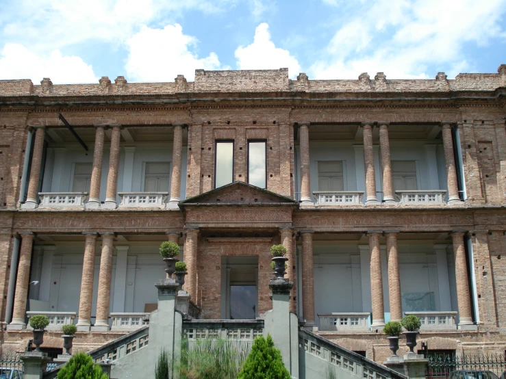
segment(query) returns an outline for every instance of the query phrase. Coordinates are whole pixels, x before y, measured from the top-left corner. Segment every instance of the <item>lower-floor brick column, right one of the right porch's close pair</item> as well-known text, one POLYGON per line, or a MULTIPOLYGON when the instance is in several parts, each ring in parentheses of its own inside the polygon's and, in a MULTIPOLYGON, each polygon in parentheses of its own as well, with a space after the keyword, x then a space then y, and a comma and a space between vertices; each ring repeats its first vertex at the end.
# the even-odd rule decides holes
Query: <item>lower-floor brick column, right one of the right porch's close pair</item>
POLYGON ((401 299, 401 277, 399 276, 399 252, 397 233, 385 233, 388 257, 388 294, 390 299, 390 319, 401 321, 403 303, 401 299))

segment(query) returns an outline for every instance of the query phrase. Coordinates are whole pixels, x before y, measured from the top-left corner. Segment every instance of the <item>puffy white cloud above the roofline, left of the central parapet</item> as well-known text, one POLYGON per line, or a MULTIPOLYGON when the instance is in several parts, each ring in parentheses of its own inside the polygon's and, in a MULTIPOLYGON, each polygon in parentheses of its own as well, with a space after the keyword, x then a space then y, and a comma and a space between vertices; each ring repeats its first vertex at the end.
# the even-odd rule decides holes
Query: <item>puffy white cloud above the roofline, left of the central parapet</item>
POLYGON ((197 38, 183 34, 179 24, 164 29, 142 29, 127 41, 129 55, 125 68, 131 81, 174 81, 182 74, 193 80, 196 68, 218 70, 221 67, 216 53, 199 58, 190 51, 197 38))

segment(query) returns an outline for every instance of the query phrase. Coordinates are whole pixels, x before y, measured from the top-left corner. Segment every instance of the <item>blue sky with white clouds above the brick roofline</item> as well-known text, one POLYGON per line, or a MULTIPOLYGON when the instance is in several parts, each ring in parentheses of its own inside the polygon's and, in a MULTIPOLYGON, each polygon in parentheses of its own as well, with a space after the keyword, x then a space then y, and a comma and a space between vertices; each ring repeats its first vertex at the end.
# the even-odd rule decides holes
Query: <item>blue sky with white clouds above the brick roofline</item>
POLYGON ((173 81, 194 70, 433 78, 506 64, 506 0, 0 0, 0 79, 173 81))

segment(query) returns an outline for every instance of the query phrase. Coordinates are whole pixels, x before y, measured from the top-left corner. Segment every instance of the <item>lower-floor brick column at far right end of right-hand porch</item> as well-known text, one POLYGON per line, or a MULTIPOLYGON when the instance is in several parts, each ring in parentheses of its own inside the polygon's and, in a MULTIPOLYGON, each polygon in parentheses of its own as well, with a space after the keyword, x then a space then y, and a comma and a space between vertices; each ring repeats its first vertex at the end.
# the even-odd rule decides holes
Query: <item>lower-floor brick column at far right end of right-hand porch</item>
POLYGON ((457 303, 459 305, 459 327, 472 324, 471 299, 468 282, 468 265, 464 233, 451 233, 455 255, 455 276, 457 278, 457 303))

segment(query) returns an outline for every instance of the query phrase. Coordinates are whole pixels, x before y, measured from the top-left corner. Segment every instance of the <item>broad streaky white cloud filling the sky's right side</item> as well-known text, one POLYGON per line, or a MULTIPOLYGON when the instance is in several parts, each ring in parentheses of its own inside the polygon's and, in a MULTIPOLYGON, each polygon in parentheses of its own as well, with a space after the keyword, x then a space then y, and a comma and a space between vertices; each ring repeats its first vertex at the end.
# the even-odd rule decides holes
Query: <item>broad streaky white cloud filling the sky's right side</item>
MULTIPOLYGON (((335 0, 322 0, 338 5, 335 0)), ((318 79, 383 71, 388 78, 449 77, 472 69, 466 44, 506 38, 506 0, 377 0, 344 15, 327 48, 309 70, 318 79)))

